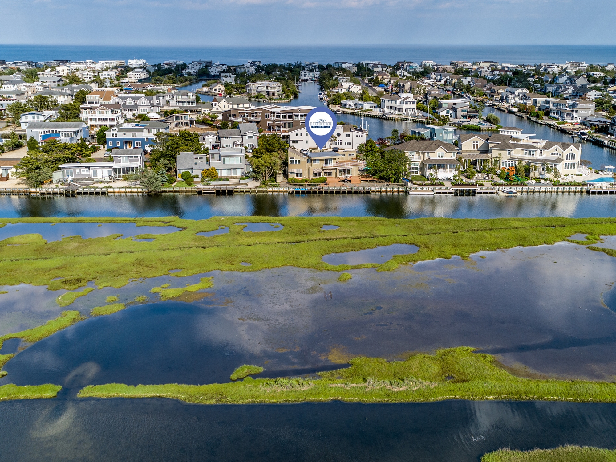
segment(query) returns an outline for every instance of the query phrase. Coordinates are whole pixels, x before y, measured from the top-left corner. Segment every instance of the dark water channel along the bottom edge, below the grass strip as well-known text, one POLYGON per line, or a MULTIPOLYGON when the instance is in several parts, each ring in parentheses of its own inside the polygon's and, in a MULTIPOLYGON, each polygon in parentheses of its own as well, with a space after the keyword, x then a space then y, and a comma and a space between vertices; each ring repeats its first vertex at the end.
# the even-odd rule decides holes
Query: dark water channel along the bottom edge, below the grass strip
POLYGON ((165 399, 0 403, 0 445, 21 461, 477 462, 501 447, 616 447, 616 405, 187 405, 165 399))

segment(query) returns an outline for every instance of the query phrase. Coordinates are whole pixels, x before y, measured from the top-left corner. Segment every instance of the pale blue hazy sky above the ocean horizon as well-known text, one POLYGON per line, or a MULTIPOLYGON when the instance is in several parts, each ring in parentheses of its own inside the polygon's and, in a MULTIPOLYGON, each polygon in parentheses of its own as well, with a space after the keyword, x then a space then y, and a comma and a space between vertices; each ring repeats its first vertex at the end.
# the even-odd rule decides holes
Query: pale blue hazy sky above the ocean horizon
POLYGON ((2 0, 0 46, 616 44, 615 20, 614 0, 2 0))

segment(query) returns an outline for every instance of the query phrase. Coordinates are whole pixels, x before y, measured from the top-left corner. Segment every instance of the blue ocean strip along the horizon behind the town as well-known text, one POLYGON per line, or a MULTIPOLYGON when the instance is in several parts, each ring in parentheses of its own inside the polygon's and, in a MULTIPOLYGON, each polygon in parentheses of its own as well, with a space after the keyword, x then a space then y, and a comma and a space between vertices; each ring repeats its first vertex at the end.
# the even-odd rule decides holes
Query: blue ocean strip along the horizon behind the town
POLYGON ((150 64, 166 60, 213 60, 227 65, 260 60, 264 63, 336 61, 359 62, 378 60, 395 63, 400 60, 421 62, 433 60, 491 60, 501 63, 536 64, 585 61, 613 63, 614 45, 361 45, 361 46, 280 46, 280 47, 147 47, 147 46, 84 46, 84 45, 0 45, 0 59, 29 60, 128 60, 145 59, 150 64))

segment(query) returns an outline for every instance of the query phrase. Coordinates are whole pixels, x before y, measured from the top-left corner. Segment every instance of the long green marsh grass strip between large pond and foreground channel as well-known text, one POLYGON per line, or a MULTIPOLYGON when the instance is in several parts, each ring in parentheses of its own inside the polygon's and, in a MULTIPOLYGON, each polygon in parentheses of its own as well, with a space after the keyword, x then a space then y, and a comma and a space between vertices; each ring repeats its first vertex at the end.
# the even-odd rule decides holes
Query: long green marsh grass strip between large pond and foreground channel
POLYGON ((203 404, 330 400, 383 403, 445 399, 616 402, 614 383, 520 378, 501 368, 492 355, 473 351, 469 347, 448 348, 434 355, 416 354, 408 360, 394 362, 358 357, 349 361, 351 367, 319 373, 321 379, 316 380, 248 376, 235 383, 209 385, 111 383, 87 386, 78 395, 166 397, 203 404))

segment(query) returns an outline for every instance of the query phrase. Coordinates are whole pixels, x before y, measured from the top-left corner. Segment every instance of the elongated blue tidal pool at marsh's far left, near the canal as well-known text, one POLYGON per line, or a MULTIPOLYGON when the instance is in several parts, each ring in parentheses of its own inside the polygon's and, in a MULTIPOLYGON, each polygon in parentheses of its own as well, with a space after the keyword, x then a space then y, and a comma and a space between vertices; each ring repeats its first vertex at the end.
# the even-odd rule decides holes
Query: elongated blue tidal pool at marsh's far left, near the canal
POLYGON ((122 234, 124 238, 140 234, 168 234, 179 231, 175 226, 137 226, 135 223, 8 223, 0 228, 0 240, 22 234, 40 234, 47 241, 81 236, 83 239, 122 234))

